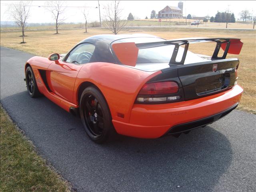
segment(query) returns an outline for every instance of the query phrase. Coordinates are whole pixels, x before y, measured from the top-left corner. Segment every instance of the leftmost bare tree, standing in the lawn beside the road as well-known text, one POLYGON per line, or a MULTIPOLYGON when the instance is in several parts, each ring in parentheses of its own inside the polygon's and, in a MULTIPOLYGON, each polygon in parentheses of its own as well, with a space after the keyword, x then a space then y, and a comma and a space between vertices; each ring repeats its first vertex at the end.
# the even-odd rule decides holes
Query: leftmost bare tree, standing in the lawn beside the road
POLYGON ((31 2, 29 1, 20 1, 16 4, 12 4, 12 8, 10 9, 10 15, 14 19, 15 23, 19 26, 19 28, 22 31, 22 42, 21 43, 26 43, 24 42, 24 29, 27 26, 27 20, 29 18, 29 6, 31 2))

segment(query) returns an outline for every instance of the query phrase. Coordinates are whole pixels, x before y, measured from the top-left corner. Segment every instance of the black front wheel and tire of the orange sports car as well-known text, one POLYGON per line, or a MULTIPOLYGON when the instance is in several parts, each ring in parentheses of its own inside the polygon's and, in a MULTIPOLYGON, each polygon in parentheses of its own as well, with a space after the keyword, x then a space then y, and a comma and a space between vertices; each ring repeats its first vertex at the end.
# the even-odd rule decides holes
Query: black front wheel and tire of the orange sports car
POLYGON ((36 84, 36 78, 31 67, 26 68, 25 76, 28 95, 32 98, 41 96, 36 84))

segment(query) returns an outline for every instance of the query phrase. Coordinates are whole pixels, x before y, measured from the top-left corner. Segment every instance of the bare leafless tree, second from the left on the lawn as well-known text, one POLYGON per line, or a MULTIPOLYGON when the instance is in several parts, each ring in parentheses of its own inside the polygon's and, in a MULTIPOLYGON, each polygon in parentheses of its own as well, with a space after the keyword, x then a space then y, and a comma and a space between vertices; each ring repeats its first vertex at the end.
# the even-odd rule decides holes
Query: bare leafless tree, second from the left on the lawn
POLYGON ((58 28, 62 22, 64 22, 65 18, 62 17, 65 12, 66 7, 65 1, 50 1, 46 2, 46 9, 52 13, 52 17, 56 22, 56 34, 58 33, 58 28))

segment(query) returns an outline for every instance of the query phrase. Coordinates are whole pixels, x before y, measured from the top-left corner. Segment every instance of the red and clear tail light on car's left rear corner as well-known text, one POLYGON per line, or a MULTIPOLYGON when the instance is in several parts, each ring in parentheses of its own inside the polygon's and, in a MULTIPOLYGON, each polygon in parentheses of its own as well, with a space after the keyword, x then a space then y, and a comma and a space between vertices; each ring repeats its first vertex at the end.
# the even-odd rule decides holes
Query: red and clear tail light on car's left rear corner
POLYGON ((141 88, 137 102, 139 103, 161 103, 179 100, 181 96, 175 95, 179 86, 174 81, 146 83, 141 88))

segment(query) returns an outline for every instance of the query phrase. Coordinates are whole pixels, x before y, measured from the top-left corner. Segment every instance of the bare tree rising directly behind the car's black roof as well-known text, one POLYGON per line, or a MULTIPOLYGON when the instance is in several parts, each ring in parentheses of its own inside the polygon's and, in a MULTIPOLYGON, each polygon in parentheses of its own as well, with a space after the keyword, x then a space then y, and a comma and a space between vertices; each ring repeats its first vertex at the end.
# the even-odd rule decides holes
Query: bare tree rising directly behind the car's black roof
POLYGON ((128 22, 127 20, 121 19, 122 9, 120 8, 120 1, 112 1, 104 9, 106 11, 104 26, 114 34, 118 34, 128 22))

